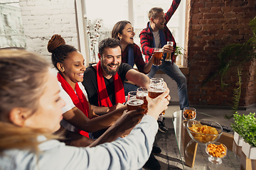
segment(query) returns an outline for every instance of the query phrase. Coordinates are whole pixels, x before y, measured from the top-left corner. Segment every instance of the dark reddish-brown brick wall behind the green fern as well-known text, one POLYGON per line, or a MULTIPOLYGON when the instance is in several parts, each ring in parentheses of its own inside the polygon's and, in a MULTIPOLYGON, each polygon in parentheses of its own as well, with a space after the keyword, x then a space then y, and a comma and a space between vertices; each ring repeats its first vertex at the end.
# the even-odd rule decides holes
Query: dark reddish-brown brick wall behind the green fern
MULTIPOLYGON (((191 0, 188 26, 188 98, 196 105, 233 105, 233 88, 223 91, 220 77, 206 86, 203 81, 218 68, 216 55, 225 45, 244 43, 252 37, 249 22, 256 16, 255 0, 191 0)), ((240 106, 256 103, 255 62, 247 63, 242 74, 240 106)), ((235 68, 234 68, 235 69, 235 68)), ((234 70, 233 70, 234 71, 234 70)), ((237 78, 230 71, 225 83, 237 78)))

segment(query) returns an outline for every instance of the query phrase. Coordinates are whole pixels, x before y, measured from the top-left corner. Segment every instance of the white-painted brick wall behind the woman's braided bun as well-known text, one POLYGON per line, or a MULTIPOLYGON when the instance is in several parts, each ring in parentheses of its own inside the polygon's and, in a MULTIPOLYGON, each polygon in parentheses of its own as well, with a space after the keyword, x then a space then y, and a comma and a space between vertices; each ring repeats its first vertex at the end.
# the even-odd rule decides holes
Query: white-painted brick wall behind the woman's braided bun
POLYGON ((26 48, 50 61, 48 40, 60 34, 66 44, 78 48, 75 23, 75 1, 71 0, 20 0, 26 48))

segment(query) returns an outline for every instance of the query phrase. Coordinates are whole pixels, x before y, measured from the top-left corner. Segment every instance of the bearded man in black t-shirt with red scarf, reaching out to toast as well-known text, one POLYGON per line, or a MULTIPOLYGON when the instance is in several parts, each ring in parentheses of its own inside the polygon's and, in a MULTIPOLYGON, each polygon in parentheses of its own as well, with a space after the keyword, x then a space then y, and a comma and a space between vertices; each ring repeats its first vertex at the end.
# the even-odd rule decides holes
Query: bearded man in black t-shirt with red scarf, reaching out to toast
POLYGON ((82 84, 96 114, 102 115, 123 106, 124 80, 149 87, 149 77, 137 72, 129 64, 122 63, 119 40, 106 38, 99 44, 99 62, 87 67, 82 84))

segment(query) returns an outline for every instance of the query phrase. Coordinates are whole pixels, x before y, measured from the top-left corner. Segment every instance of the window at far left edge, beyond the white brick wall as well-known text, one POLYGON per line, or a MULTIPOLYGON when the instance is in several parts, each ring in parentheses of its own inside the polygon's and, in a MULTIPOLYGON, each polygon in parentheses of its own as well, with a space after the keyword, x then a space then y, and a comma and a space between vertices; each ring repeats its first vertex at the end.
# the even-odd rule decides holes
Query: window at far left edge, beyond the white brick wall
POLYGON ((18 1, 0 2, 0 47, 26 47, 18 1))

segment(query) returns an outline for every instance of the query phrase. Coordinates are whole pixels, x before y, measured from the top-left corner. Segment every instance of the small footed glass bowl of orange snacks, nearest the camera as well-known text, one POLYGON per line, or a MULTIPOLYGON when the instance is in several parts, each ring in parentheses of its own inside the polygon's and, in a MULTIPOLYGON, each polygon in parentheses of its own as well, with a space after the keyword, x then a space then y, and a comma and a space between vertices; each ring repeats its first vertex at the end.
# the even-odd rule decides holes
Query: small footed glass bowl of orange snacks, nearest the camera
POLYGON ((220 142, 208 143, 206 144, 206 153, 209 155, 210 162, 221 164, 221 159, 227 155, 227 147, 220 142))

